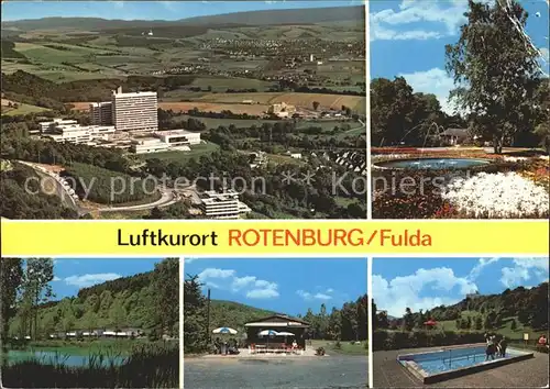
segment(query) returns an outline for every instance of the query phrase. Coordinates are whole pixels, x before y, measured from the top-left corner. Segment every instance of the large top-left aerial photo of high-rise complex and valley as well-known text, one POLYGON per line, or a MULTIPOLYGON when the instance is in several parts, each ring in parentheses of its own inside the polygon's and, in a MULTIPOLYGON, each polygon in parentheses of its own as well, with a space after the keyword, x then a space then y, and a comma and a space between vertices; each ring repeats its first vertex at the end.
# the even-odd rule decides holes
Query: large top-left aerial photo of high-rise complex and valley
POLYGON ((1 5, 2 218, 367 218, 362 2, 1 5))

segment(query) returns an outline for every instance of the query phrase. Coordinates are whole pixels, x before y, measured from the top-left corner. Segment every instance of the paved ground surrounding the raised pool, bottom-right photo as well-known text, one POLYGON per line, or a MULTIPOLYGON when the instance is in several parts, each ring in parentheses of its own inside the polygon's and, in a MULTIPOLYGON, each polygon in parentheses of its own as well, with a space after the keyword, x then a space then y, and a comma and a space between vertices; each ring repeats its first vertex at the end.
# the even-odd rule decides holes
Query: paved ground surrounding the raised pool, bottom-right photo
POLYGON ((474 373, 442 382, 424 385, 399 363, 397 355, 436 348, 414 348, 373 353, 375 388, 542 388, 548 385, 548 354, 535 353, 535 358, 474 373))

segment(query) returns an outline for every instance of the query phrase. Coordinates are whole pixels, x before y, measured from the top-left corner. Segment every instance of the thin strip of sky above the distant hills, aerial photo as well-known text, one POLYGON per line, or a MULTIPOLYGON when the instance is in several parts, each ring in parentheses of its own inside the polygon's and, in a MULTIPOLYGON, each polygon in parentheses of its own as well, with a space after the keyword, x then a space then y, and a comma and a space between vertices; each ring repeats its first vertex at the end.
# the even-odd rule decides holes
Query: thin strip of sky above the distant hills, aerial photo
POLYGON ((2 20, 89 16, 124 20, 179 20, 277 9, 360 4, 359 1, 2 1, 2 20))

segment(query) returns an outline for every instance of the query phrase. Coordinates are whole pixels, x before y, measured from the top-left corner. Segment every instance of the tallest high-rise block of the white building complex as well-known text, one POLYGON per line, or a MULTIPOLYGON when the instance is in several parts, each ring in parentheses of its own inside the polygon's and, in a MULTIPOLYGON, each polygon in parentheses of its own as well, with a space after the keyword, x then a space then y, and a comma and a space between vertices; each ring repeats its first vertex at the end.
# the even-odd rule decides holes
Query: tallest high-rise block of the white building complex
POLYGON ((156 92, 112 93, 112 122, 117 131, 158 131, 156 92))

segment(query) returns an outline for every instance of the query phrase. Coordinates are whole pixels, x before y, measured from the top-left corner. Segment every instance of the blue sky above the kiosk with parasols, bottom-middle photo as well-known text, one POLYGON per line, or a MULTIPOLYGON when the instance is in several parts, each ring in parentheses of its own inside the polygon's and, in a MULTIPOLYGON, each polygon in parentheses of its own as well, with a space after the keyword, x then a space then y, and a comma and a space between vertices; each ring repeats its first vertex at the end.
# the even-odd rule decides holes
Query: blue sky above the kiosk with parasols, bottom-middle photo
POLYGON ((184 271, 198 275, 211 298, 278 313, 306 314, 340 309, 366 293, 366 259, 254 258, 185 259, 184 271))

